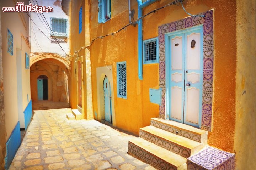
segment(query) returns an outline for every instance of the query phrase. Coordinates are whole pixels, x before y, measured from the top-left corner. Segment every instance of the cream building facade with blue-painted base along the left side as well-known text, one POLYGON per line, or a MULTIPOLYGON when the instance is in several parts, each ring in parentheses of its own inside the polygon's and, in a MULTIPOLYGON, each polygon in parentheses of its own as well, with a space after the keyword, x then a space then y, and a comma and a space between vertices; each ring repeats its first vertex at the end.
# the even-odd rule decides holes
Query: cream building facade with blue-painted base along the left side
MULTIPOLYGON (((1 1, 1 7, 14 7, 17 2, 1 1)), ((20 130, 32 117, 29 31, 26 13, 1 10, 0 169, 10 166, 21 143, 20 130)))

